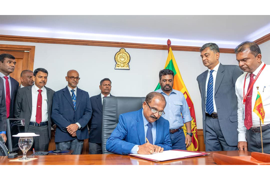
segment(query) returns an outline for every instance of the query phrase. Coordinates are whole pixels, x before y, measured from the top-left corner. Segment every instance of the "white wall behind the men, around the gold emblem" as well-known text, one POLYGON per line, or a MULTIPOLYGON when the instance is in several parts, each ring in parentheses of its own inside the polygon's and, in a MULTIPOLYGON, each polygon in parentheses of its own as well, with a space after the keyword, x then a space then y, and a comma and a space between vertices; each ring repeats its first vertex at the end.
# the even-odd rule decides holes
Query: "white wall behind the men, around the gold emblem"
MULTIPOLYGON (((112 81, 111 94, 115 96, 144 97, 154 91, 158 73, 164 68, 167 50, 125 48, 131 56, 130 70, 115 70, 114 56, 120 48, 80 46, 65 44, 44 44, 0 41, 1 44, 36 46, 34 70, 43 67, 48 70, 47 87, 57 91, 67 85, 68 70, 75 69, 81 77, 78 87, 88 91, 90 96, 100 93, 99 82, 103 78, 112 81)), ((262 44, 262 54, 268 53, 270 41, 262 44)), ((198 129, 202 129, 201 98, 196 77, 207 68, 203 66, 199 52, 173 51, 180 73, 194 104, 198 129)), ((263 54, 263 57, 265 55, 263 54)), ((222 64, 238 65, 235 54, 220 54, 222 64)), ((265 61, 266 64, 267 63, 265 61)))

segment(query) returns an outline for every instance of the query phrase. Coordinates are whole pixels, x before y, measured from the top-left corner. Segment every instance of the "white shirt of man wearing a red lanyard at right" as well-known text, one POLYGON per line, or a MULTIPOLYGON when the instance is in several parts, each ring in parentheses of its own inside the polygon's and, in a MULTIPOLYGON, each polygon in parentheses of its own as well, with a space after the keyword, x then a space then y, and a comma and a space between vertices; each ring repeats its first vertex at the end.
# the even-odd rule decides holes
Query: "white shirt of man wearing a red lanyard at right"
MULTIPOLYGON (((262 66, 264 65, 264 62, 253 72, 254 79, 258 75, 259 71, 261 70, 262 66)), ((241 76, 238 77, 238 79, 235 82, 235 94, 237 96, 238 101, 238 110, 237 110, 237 117, 238 117, 238 142, 239 141, 247 141, 246 140, 246 130, 247 128, 244 125, 244 120, 242 119, 242 108, 243 108, 243 88, 244 88, 244 79, 246 77, 246 84, 245 84, 245 95, 247 94, 248 90, 248 84, 250 80, 250 73, 245 72, 241 76)), ((264 69, 262 70, 261 74, 259 75, 258 79, 253 85, 253 91, 252 91, 252 100, 251 100, 251 108, 252 108, 252 127, 260 127, 260 120, 259 116, 256 115, 256 113, 253 112, 253 108, 255 105, 255 101, 257 98, 257 86, 259 87, 259 93, 262 98, 262 105, 263 109, 265 111, 265 118, 264 118, 264 125, 270 124, 270 66, 266 65, 264 69)))

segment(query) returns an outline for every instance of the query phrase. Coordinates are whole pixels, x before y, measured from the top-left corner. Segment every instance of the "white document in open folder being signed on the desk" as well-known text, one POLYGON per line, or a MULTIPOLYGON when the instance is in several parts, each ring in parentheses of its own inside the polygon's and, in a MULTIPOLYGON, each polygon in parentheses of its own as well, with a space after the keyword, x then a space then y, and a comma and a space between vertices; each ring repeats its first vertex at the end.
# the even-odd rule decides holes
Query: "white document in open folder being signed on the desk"
POLYGON ((140 155, 140 154, 130 154, 130 155, 134 155, 134 156, 138 156, 142 158, 154 159, 158 161, 166 161, 170 159, 183 158, 183 157, 199 155, 199 154, 201 153, 169 150, 169 151, 164 151, 161 153, 155 153, 152 155, 140 155))

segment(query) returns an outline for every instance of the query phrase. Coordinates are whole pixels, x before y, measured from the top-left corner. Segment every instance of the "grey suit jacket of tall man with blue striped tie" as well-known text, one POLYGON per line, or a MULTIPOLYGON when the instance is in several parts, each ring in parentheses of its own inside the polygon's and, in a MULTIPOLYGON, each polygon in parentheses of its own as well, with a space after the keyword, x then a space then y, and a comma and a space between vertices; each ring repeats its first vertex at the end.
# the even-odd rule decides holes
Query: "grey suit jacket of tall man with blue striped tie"
MULTIPOLYGON (((205 85, 208 70, 197 77, 202 98, 202 127, 205 143, 205 85)), ((218 122, 222 134, 229 146, 237 146, 237 97, 235 95, 235 82, 243 71, 236 65, 223 65, 220 63, 215 82, 215 104, 218 122)))

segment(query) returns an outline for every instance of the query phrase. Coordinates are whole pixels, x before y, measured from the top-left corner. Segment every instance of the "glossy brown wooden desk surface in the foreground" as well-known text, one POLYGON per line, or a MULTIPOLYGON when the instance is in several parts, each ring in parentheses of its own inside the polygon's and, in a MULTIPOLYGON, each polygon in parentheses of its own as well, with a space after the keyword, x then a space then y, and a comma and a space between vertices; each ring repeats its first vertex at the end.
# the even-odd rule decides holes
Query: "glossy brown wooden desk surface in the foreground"
MULTIPOLYGON (((30 162, 10 162, 7 156, 0 156, 1 165, 216 165, 212 154, 219 153, 227 156, 250 156, 247 151, 216 151, 210 155, 186 158, 164 162, 152 162, 131 156, 104 154, 104 155, 46 155, 27 156, 38 158, 30 162)), ((22 156, 18 156, 21 158, 22 156)))

